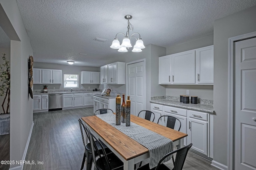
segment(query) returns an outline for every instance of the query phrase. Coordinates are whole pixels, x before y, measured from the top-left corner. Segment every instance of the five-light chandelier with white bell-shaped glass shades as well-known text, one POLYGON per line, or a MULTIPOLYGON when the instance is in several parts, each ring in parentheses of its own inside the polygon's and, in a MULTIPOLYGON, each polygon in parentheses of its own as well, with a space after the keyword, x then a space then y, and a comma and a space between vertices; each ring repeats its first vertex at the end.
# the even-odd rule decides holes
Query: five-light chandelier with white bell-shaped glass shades
POLYGON ((117 34, 116 34, 116 36, 117 36, 118 34, 124 35, 122 44, 120 45, 120 42, 118 41, 118 39, 117 39, 117 37, 116 37, 116 38, 114 38, 114 41, 112 42, 112 45, 110 46, 110 48, 112 48, 112 49, 118 49, 118 52, 122 52, 122 53, 127 52, 127 51, 128 51, 127 48, 129 49, 130 47, 132 47, 130 39, 131 39, 132 37, 134 37, 134 38, 136 39, 136 43, 135 43, 135 45, 134 45, 134 47, 133 47, 133 49, 132 49, 132 52, 141 52, 141 51, 142 51, 141 49, 144 49, 145 46, 144 46, 144 44, 143 44, 143 41, 142 41, 141 38, 140 38, 140 34, 139 34, 139 33, 133 33, 133 34, 129 37, 129 31, 130 31, 130 30, 133 31, 133 25, 132 25, 132 24, 130 23, 130 21, 129 21, 130 19, 132 19, 132 16, 131 16, 131 15, 126 15, 126 16, 124 16, 124 18, 125 18, 126 20, 128 20, 128 22, 127 22, 128 26, 127 26, 126 35, 125 35, 124 33, 117 33, 117 34), (134 34, 138 34, 138 35, 139 35, 139 38, 137 39, 137 38, 134 36, 134 34))

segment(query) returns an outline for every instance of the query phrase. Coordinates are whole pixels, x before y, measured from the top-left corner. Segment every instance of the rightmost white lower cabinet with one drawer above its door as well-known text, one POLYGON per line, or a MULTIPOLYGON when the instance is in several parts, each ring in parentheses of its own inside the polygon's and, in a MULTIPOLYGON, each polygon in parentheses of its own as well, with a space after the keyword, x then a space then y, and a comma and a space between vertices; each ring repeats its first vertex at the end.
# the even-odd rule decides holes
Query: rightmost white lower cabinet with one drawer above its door
POLYGON ((188 116, 188 143, 193 143, 191 149, 208 156, 209 114, 188 110, 188 116))

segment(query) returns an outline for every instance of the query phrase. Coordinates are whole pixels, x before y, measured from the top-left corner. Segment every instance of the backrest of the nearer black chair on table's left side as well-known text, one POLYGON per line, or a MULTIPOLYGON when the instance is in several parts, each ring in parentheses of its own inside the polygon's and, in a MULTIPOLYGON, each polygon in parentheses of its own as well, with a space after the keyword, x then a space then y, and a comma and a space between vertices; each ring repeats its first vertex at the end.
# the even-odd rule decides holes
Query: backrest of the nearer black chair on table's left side
POLYGON ((107 164, 108 164, 108 168, 109 168, 109 170, 111 170, 110 164, 109 164, 109 162, 108 162, 108 156, 107 156, 107 154, 106 154, 106 151, 105 151, 105 149, 104 149, 102 143, 98 140, 98 138, 96 138, 96 137, 90 132, 90 130, 89 130, 87 127, 85 127, 85 128, 86 128, 86 131, 88 132, 88 135, 89 135, 89 140, 90 140, 90 144, 91 144, 91 149, 94 150, 94 151, 96 151, 96 153, 97 153, 97 154, 96 154, 95 152, 92 152, 92 158, 93 158, 94 165, 96 166, 96 156, 102 157, 102 153, 103 153, 103 156, 104 156, 104 158, 106 159, 106 162, 107 162, 107 164), (100 144, 100 147, 97 147, 97 146, 96 146, 95 141, 97 141, 98 144, 100 144), (102 149, 102 152, 100 152, 100 151, 98 150, 98 148, 101 148, 101 149, 102 149))

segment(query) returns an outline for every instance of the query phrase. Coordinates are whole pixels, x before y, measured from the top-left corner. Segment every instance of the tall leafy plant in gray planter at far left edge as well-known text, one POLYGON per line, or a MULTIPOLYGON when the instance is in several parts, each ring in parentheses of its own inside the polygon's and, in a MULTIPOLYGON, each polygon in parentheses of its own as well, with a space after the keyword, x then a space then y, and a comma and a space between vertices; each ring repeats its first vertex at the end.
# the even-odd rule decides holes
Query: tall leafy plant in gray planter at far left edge
POLYGON ((3 64, 0 64, 0 96, 4 96, 2 102, 3 113, 0 112, 0 135, 10 133, 10 62, 6 59, 6 54, 3 53, 3 64), (7 98, 7 104, 6 103, 7 98), (6 107, 6 108, 5 108, 6 107))

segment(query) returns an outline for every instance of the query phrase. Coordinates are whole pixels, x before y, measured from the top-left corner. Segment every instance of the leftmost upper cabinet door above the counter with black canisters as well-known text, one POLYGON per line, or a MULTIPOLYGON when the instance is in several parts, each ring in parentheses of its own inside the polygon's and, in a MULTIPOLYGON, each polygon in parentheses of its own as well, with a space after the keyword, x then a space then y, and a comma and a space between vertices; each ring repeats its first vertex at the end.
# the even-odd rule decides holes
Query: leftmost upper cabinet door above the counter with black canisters
POLYGON ((171 84, 171 55, 159 57, 159 84, 171 84))

